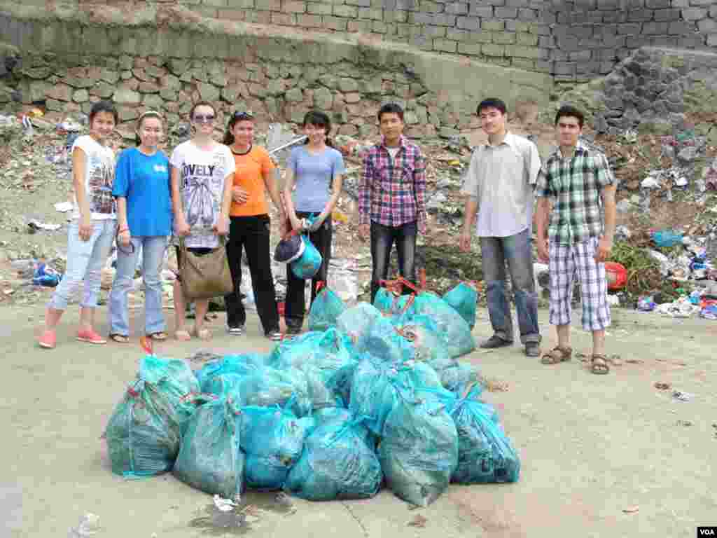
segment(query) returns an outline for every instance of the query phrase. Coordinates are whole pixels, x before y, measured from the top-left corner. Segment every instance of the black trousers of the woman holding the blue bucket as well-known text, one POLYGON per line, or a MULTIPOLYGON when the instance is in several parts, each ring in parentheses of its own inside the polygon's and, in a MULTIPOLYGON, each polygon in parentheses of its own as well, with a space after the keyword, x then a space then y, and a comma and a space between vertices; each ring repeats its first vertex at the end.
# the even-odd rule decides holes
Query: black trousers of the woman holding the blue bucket
MULTIPOLYGON (((297 212, 296 216, 300 219, 316 215, 317 213, 297 212)), ((316 284, 320 281, 326 282, 328 276, 328 263, 331 261, 331 236, 333 234, 333 225, 331 224, 331 215, 326 217, 321 227, 315 232, 309 234, 309 239, 321 254, 323 261, 318 273, 311 280, 311 303, 316 298, 316 284)), ((286 265, 286 305, 284 318, 288 329, 300 329, 304 323, 304 315, 306 312, 306 301, 304 298, 304 280, 294 275, 291 270, 291 264, 286 265)))

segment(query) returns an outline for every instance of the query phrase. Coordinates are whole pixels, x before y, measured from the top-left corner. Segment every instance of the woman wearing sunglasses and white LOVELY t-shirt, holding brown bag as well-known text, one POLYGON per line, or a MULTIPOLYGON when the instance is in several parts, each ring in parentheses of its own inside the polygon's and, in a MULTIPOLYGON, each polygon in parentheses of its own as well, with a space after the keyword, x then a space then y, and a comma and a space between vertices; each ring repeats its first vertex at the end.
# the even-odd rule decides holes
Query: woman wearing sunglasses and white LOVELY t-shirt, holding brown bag
MULTIPOLYGON (((210 103, 196 103, 189 112, 194 131, 191 140, 179 144, 170 159, 174 231, 184 237, 189 252, 205 255, 219 245, 218 235, 229 233, 229 204, 232 202, 234 157, 227 146, 214 141, 214 120, 217 112, 210 103)), ((178 242, 175 238, 175 245, 178 242)), ((181 250, 176 247, 181 267, 181 250)), ((192 334, 199 339, 211 338, 204 328, 209 299, 194 301, 196 314, 192 334)), ((174 335, 189 340, 186 330, 185 302, 181 283, 174 283, 174 335)))

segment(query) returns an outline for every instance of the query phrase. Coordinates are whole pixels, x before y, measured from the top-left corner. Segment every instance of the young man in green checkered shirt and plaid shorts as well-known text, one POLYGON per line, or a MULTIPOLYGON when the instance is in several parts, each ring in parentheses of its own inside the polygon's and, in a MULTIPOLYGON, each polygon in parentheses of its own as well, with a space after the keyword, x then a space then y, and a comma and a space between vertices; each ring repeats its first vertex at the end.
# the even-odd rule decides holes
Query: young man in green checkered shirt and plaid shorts
POLYGON ((583 121, 574 107, 558 110, 559 148, 543 164, 536 184, 538 258, 549 263, 550 323, 558 332, 558 345, 543 355, 542 362, 571 359, 570 303, 577 274, 582 326, 592 332, 591 371, 607 374, 605 328, 610 308, 604 261, 612 250, 617 186, 607 157, 579 142, 583 121))

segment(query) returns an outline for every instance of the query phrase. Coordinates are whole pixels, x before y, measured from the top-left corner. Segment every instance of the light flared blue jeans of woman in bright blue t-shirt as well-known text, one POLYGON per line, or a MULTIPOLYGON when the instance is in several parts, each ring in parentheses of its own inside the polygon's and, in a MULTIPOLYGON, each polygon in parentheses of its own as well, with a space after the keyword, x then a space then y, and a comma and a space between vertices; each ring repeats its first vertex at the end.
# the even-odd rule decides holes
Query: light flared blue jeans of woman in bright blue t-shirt
POLYGON ((160 276, 167 238, 164 235, 132 237, 129 247, 117 249, 117 273, 110 292, 110 334, 129 336, 129 313, 127 293, 137 267, 137 258, 142 255, 142 278, 144 280, 144 331, 145 334, 164 331, 162 312, 162 279, 160 276))

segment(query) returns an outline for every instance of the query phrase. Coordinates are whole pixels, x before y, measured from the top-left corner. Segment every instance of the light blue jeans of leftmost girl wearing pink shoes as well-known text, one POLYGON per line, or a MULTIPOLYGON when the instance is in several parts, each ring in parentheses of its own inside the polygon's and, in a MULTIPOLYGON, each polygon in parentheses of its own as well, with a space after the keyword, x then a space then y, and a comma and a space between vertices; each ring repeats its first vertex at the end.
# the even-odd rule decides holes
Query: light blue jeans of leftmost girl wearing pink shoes
POLYGON ((82 308, 95 308, 100 293, 102 267, 110 254, 117 230, 116 220, 93 220, 92 235, 87 241, 80 239, 80 222, 70 222, 67 231, 67 268, 65 276, 55 288, 48 308, 65 310, 77 286, 85 280, 82 308))

